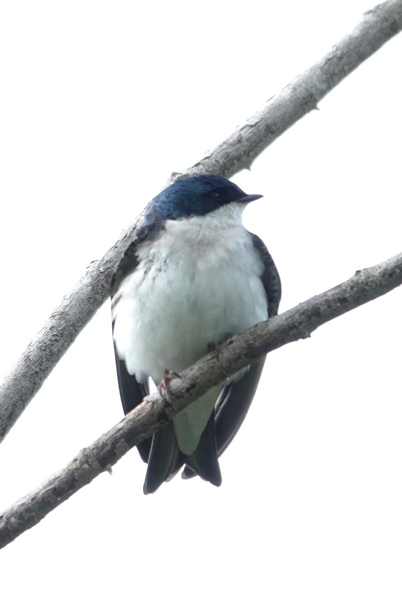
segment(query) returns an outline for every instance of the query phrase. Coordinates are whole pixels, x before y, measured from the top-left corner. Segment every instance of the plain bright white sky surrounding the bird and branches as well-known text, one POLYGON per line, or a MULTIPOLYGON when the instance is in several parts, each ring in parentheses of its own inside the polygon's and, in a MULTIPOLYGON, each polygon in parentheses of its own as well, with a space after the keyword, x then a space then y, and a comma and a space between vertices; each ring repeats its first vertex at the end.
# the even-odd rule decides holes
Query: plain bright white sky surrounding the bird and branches
MULTIPOLYGON (((260 109, 374 0, 3 2, 5 373, 172 171, 260 109)), ((388 43, 234 182, 281 310, 401 251, 388 43)), ((269 355, 223 484, 142 494, 136 450, 0 551, 2 601, 401 600, 402 292, 269 355)), ((108 303, 0 446, 0 508, 121 417, 108 303)))

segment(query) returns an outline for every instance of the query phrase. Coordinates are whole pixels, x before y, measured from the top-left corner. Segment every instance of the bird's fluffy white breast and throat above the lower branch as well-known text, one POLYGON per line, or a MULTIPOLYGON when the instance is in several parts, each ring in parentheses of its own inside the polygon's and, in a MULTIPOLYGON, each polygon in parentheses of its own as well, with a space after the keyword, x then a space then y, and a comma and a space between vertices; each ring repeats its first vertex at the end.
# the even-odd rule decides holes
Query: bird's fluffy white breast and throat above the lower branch
POLYGON ((139 267, 121 284, 113 338, 127 370, 155 383, 211 344, 268 318, 262 260, 231 203, 207 216, 172 220, 140 244, 139 267))

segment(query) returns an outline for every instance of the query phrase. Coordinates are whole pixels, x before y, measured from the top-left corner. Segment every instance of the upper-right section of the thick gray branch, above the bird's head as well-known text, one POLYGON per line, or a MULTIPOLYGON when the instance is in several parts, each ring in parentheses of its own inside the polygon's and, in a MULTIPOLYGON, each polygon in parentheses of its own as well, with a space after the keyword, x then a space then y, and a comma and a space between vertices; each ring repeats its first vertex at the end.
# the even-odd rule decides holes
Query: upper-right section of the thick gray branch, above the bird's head
POLYGON ((187 169, 193 174, 230 178, 253 161, 287 128, 317 104, 347 75, 359 67, 402 29, 402 2, 391 0, 367 11, 351 33, 334 45, 318 63, 298 75, 265 107, 238 127, 213 151, 187 169))

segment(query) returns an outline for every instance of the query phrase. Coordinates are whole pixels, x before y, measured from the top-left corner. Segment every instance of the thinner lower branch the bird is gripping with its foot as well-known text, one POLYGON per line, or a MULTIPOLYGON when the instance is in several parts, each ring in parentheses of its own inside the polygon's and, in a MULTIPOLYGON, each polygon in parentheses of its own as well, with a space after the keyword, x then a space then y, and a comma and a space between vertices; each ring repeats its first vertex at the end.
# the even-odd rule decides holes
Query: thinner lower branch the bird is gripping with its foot
POLYGON ((81 452, 67 467, 0 515, 0 548, 39 523, 99 473, 110 470, 133 446, 149 437, 193 400, 231 374, 272 350, 310 336, 322 324, 402 284, 402 253, 359 270, 341 285, 237 335, 197 362, 169 385, 169 402, 146 397, 118 425, 81 452))

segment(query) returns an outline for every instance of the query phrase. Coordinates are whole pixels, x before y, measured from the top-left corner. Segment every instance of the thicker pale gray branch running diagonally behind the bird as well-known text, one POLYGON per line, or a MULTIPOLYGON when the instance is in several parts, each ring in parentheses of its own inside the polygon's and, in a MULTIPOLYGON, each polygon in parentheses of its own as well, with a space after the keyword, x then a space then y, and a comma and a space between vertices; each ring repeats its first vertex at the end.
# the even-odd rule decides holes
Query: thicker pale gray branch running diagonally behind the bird
MULTIPOLYGON (((230 177, 250 166, 275 138, 314 109, 327 92, 401 29, 402 0, 389 0, 373 8, 319 63, 295 78, 185 175, 204 172, 230 177)), ((133 230, 131 226, 102 259, 89 266, 5 378, 0 388, 0 441, 108 297, 111 268, 133 230)))

